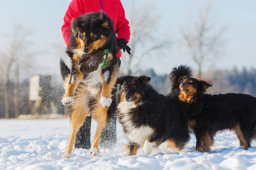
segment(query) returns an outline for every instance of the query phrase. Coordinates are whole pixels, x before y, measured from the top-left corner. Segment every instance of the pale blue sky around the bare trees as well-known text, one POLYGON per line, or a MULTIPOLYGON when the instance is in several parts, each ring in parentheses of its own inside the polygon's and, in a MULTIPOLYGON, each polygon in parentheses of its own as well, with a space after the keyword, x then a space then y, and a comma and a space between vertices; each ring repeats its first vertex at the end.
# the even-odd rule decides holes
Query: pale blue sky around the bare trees
MULTIPOLYGON (((97 0, 94 0, 97 1, 97 0)), ((71 0, 0 0, 0 50, 6 48, 6 33, 11 35, 16 24, 32 29, 32 50, 46 52, 36 56, 39 66, 46 73, 59 73, 59 58, 63 56, 53 45, 65 49, 61 35, 61 25, 65 11, 71 0)), ((123 7, 129 11, 130 1, 121 0, 123 7)), ((159 27, 172 35, 170 39, 179 39, 179 29, 189 20, 189 15, 199 8, 196 0, 172 1, 158 0, 155 5, 155 15, 159 16, 159 27)), ((225 52, 217 62, 210 63, 208 67, 231 69, 237 66, 255 67, 256 61, 256 1, 212 1, 210 19, 213 24, 224 25, 227 30, 223 39, 226 42, 225 52)), ((127 12, 126 12, 126 15, 127 12)), ((129 19, 129 18, 127 18, 129 19)), ((181 56, 176 52, 177 45, 170 46, 170 54, 158 64, 146 65, 144 68, 153 67, 157 73, 170 73, 172 67, 180 64, 194 66, 190 58, 181 56)), ((207 68, 205 68, 207 69, 207 68)))

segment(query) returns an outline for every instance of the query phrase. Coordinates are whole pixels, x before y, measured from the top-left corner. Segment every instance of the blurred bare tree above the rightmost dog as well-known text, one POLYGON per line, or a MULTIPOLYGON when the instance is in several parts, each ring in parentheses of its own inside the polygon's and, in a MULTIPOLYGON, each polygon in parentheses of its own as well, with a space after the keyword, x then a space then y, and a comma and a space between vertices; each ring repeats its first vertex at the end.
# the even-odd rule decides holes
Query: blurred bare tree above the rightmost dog
POLYGON ((185 48, 187 48, 188 55, 198 67, 198 78, 202 76, 203 64, 216 58, 221 52, 223 45, 222 35, 225 28, 214 28, 210 24, 209 13, 211 3, 200 11, 199 19, 195 20, 191 26, 186 25, 180 28, 181 36, 185 41, 185 48))

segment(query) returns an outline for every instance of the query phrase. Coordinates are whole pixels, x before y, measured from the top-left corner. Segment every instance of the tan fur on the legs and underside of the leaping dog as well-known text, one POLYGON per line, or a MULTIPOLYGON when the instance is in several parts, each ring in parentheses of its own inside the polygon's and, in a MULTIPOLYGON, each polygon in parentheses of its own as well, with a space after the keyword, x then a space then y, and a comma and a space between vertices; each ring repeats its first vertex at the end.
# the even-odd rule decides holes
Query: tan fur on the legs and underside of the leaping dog
MULTIPOLYGON (((110 59, 111 59, 111 57, 110 57, 110 59)), ((109 84, 107 84, 105 81, 103 81, 104 83, 102 84, 102 86, 98 87, 98 94, 96 96, 94 96, 94 97, 96 97, 97 101, 99 101, 101 99, 101 96, 104 96, 106 98, 111 97, 110 90, 113 88, 114 83, 115 83, 116 79, 118 78, 118 75, 119 75, 119 66, 117 63, 114 66, 113 76, 110 79, 109 84)), ((75 82, 75 83, 78 83, 78 82, 75 82)), ((71 83, 68 85, 68 88, 67 88, 68 93, 67 94, 70 95, 73 92, 73 90, 75 91, 76 88, 74 88, 74 87, 77 87, 77 85, 74 86, 75 83, 71 83), (69 87, 72 87, 72 89, 70 89, 69 87)), ((76 91, 77 95, 74 97, 74 102, 71 105, 71 112, 72 112, 71 113, 71 134, 69 135, 68 146, 65 150, 65 152, 67 152, 67 153, 72 152, 72 147, 75 142, 76 133, 81 128, 81 126, 84 124, 86 116, 90 116, 90 115, 92 115, 92 118, 98 124, 96 134, 94 137, 94 142, 92 145, 92 147, 95 147, 98 150, 98 145, 100 143, 100 138, 101 138, 101 131, 102 131, 102 128, 107 123, 107 112, 108 112, 109 108, 103 108, 100 103, 97 103, 94 106, 93 110, 90 109, 90 106, 88 103, 89 102, 88 97, 91 96, 92 94, 90 93, 89 88, 90 87, 88 87, 84 84, 80 84, 77 87, 77 91, 76 91)), ((95 89, 94 89, 94 91, 95 91, 95 89)))

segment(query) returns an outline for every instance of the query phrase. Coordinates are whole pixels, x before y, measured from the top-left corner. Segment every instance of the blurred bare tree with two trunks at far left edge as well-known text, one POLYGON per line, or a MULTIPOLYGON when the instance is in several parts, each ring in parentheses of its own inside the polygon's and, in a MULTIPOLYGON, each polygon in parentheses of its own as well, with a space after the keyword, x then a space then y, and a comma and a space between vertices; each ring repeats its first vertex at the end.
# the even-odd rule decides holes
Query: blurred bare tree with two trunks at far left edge
MULTIPOLYGON (((19 65, 23 59, 30 56, 27 51, 27 37, 30 35, 30 31, 24 30, 22 26, 18 25, 14 28, 13 34, 8 37, 10 42, 6 43, 5 49, 0 51, 1 72, 4 73, 4 84, 5 84, 5 118, 10 117, 10 78, 12 73, 16 73, 15 78, 15 105, 18 107, 18 72, 19 65), (14 67, 15 66, 15 67, 14 67), (13 71, 14 70, 14 71, 13 71)), ((15 108, 15 112, 18 112, 18 108, 15 108)), ((18 116, 18 113, 15 113, 18 116)))

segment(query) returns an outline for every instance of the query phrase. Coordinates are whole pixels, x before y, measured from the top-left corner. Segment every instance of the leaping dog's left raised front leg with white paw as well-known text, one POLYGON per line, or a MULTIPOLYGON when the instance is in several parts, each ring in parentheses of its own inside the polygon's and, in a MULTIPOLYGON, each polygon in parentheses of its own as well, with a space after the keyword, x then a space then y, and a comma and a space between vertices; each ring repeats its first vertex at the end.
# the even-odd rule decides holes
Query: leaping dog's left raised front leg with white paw
POLYGON ((61 100, 61 103, 63 103, 64 105, 70 105, 73 102, 75 89, 83 78, 84 75, 80 73, 80 71, 77 71, 75 69, 71 70, 71 78, 69 80, 68 87, 65 91, 65 95, 61 100))

